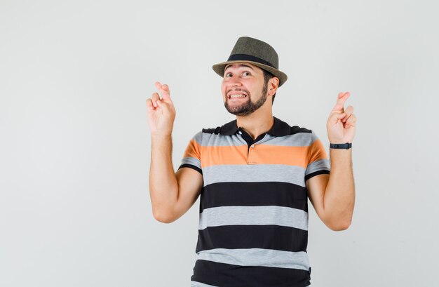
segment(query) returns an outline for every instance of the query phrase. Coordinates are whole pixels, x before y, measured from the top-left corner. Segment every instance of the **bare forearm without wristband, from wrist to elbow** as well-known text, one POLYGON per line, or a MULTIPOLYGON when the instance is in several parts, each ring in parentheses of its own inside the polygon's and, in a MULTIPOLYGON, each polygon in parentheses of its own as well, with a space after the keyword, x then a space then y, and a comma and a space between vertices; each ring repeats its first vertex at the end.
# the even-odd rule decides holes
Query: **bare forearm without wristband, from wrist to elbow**
POLYGON ((166 220, 177 203, 178 184, 172 161, 172 136, 151 135, 149 193, 154 218, 166 220))

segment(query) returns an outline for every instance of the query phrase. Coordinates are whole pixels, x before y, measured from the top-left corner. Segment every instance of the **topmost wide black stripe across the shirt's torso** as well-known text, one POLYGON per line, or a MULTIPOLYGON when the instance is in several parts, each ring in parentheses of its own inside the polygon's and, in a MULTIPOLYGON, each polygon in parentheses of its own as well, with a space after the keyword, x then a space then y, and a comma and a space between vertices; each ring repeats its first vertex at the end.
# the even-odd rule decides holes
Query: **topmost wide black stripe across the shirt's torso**
POLYGON ((201 192, 200 212, 217 206, 286 206, 308 212, 306 188, 288 182, 218 182, 201 192))

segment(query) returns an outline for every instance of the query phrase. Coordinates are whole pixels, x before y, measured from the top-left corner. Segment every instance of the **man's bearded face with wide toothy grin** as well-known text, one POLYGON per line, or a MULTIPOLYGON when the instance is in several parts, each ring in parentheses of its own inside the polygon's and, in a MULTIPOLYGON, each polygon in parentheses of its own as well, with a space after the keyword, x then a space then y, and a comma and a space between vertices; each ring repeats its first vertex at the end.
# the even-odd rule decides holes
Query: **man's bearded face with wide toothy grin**
POLYGON ((247 116, 259 109, 267 98, 262 69, 247 62, 227 65, 222 79, 224 107, 236 116, 247 116))

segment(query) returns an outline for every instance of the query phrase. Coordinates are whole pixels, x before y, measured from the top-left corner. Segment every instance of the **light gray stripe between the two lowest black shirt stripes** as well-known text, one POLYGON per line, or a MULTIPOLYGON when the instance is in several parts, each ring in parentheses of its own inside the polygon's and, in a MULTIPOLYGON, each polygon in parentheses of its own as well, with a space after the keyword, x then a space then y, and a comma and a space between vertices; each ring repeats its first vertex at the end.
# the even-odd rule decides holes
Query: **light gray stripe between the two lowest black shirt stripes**
POLYGON ((261 248, 216 248, 200 251, 198 258, 201 260, 241 266, 266 266, 309 270, 308 254, 303 251, 290 252, 261 248), (293 262, 297 262, 297 264, 293 262))

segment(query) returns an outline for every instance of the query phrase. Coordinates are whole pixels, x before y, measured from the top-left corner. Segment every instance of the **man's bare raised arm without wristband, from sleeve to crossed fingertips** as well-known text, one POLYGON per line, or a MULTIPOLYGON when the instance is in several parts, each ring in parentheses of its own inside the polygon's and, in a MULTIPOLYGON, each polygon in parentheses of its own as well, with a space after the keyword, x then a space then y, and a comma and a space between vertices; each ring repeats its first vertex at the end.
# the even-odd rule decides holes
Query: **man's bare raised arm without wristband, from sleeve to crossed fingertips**
POLYGON ((154 218, 170 223, 186 213, 198 198, 203 177, 191 168, 174 173, 172 162, 172 131, 175 107, 167 85, 156 82, 161 93, 147 99, 148 125, 151 131, 151 165, 149 194, 154 218))

